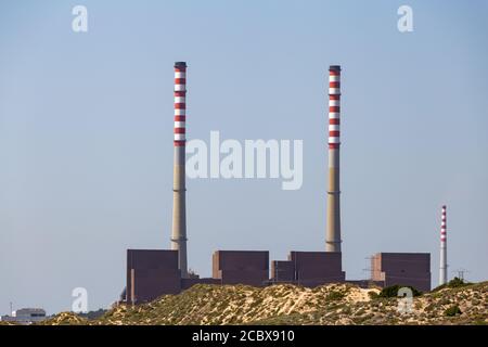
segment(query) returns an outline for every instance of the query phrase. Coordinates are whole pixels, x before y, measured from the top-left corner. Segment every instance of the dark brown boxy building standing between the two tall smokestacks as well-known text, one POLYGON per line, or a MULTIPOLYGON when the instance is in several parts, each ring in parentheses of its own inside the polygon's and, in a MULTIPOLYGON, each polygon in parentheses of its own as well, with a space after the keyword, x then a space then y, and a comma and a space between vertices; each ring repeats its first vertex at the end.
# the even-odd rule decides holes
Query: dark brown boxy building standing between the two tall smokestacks
POLYGON ((268 250, 216 250, 211 260, 213 278, 221 284, 261 286, 269 280, 268 250))

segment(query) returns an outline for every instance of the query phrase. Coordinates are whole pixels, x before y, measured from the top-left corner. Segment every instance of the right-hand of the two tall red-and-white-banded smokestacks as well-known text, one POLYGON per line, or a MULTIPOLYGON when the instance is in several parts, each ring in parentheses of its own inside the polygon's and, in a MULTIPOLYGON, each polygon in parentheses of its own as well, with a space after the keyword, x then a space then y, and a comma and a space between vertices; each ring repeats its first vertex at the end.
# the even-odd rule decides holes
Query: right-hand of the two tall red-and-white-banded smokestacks
POLYGON ((329 191, 325 252, 341 252, 341 66, 329 68, 329 191))

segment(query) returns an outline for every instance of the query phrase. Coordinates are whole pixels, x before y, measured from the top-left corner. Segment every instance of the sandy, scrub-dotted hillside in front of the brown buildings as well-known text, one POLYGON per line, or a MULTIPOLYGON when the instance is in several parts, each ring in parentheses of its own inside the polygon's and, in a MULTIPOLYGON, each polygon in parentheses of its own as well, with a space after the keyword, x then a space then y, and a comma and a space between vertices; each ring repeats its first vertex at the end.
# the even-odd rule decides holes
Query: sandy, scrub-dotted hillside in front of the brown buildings
POLYGON ((118 306, 97 320, 64 312, 43 324, 488 324, 488 282, 415 297, 403 314, 397 298, 372 293, 380 290, 195 285, 146 305, 118 306))

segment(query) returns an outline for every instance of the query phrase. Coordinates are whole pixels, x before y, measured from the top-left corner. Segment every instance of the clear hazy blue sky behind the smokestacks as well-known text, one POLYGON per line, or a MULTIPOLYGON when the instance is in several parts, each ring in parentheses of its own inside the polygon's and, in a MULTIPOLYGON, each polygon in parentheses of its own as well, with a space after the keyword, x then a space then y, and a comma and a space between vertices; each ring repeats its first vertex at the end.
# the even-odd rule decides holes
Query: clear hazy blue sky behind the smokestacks
POLYGON ((188 180, 189 266, 216 249, 323 250, 326 74, 341 64, 348 279, 376 252, 429 252, 488 280, 486 1, 1 1, 0 313, 89 309, 125 285, 127 248, 168 248, 172 65, 188 138, 304 140, 304 184, 188 180), (72 30, 73 7, 88 33, 72 30), (413 31, 397 9, 413 9, 413 31))

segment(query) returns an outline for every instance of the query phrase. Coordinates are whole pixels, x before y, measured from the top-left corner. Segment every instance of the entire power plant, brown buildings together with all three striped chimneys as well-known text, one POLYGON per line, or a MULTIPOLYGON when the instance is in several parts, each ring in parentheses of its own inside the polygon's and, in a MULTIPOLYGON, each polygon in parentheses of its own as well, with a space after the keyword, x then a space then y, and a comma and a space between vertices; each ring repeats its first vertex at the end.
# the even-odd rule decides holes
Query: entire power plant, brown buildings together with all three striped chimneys
MULTIPOLYGON (((268 250, 216 250, 211 278, 189 273, 187 262, 185 124, 187 63, 175 63, 174 210, 171 249, 128 249, 127 284, 120 301, 146 303, 164 294, 178 294, 197 283, 254 286, 293 283, 314 287, 326 283, 361 286, 410 285, 431 290, 431 254, 378 253, 371 258, 369 280, 346 280, 341 249, 341 66, 329 68, 329 188, 323 252, 290 252, 287 259, 271 260, 268 250)), ((446 207, 441 223, 441 282, 447 281, 446 207)))

